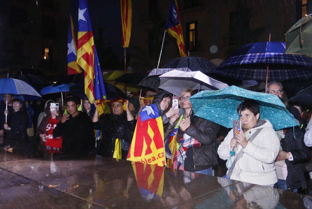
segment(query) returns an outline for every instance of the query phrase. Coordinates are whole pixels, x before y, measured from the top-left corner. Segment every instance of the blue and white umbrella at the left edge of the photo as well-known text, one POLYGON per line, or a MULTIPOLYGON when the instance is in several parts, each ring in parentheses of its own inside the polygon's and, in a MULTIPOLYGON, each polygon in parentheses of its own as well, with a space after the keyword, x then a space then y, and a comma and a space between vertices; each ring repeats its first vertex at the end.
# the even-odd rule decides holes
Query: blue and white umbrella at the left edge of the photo
POLYGON ((28 83, 14 78, 0 78, 0 94, 31 95, 41 97, 28 83))

